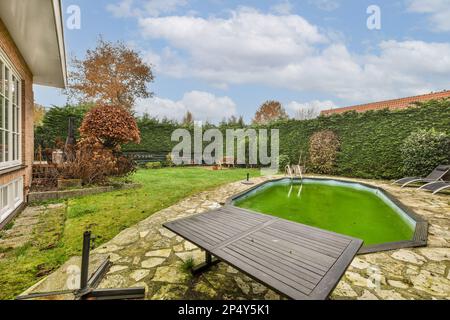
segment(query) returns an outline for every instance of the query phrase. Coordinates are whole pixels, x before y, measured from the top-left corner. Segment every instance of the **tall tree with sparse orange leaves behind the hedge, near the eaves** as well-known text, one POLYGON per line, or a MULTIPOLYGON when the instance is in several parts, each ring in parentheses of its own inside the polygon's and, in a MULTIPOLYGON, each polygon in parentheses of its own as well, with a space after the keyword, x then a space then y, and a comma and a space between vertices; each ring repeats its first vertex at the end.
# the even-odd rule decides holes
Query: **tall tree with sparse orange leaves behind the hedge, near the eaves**
POLYGON ((149 98, 151 66, 122 42, 100 38, 84 60, 73 59, 68 94, 77 102, 121 106, 131 110, 136 99, 149 98))

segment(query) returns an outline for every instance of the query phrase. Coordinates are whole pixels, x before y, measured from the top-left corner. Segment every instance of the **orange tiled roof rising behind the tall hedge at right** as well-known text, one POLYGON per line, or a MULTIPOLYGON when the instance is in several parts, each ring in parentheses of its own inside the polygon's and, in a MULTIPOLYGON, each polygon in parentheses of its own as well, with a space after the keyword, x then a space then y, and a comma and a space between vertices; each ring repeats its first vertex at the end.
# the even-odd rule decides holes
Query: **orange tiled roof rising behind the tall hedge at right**
POLYGON ((442 100, 442 99, 450 99, 450 90, 441 91, 441 92, 433 92, 429 94, 423 94, 420 96, 407 97, 401 99, 394 100, 386 100, 374 103, 360 104, 351 107, 337 108, 331 110, 322 111, 321 115, 329 116, 332 114, 339 114, 348 111, 356 111, 356 112, 366 112, 369 110, 382 110, 382 109, 405 109, 410 107, 416 102, 426 102, 430 100, 442 100))

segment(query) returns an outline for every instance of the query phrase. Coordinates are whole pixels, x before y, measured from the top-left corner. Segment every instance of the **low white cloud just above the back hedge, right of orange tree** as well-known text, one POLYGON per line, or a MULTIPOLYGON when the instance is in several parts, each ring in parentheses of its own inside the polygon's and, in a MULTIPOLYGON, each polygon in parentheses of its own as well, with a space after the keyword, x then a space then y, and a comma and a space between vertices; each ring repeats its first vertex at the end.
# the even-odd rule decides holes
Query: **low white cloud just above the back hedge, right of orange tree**
POLYGON ((191 91, 179 101, 163 98, 140 100, 136 111, 158 118, 181 120, 187 111, 195 120, 218 122, 224 117, 236 115, 236 104, 229 97, 217 97, 209 92, 191 91))

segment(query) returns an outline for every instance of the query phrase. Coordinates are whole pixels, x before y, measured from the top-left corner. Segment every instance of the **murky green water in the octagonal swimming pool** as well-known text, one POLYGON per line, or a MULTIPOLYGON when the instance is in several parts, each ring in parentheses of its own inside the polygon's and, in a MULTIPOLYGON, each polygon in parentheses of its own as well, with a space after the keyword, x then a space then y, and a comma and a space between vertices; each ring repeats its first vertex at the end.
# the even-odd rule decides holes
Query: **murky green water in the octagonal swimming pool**
POLYGON ((234 205, 363 239, 364 246, 411 240, 414 223, 377 192, 356 184, 305 180, 301 186, 283 180, 236 199, 234 205))

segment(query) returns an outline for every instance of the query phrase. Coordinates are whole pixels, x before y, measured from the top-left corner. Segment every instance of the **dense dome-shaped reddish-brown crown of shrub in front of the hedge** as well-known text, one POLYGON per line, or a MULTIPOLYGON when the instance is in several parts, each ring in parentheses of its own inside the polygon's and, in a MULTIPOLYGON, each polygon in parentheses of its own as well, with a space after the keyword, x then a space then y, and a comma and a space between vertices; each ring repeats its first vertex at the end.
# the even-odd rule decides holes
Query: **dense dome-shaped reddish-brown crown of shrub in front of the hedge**
POLYGON ((89 111, 80 127, 81 136, 95 137, 110 149, 124 143, 139 143, 136 119, 119 106, 98 105, 89 111))

